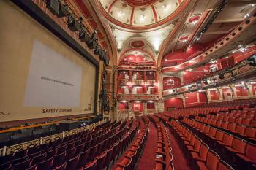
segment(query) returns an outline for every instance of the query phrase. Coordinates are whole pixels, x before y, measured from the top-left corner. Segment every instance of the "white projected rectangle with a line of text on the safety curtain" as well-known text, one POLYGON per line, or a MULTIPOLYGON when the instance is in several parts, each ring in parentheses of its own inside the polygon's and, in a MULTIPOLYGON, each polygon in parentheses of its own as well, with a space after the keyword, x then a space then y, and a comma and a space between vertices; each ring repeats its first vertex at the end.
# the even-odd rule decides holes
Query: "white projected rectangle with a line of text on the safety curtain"
POLYGON ((35 40, 24 107, 79 107, 82 68, 35 40))

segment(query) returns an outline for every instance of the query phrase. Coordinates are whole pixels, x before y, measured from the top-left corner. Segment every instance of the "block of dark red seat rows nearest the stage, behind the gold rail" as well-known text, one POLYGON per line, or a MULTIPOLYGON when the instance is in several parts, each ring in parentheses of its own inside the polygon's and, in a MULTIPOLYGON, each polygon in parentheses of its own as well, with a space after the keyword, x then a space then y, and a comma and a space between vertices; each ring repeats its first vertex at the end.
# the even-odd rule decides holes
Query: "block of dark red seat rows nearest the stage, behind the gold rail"
MULTIPOLYGON (((75 134, 33 149, 1 157, 0 169, 102 169, 117 142, 131 141, 131 123, 109 123, 85 134, 75 134), (104 129, 103 129, 104 128, 104 129)), ((135 134, 135 132, 133 133, 135 134)), ((112 155, 111 155, 112 156, 112 155)))

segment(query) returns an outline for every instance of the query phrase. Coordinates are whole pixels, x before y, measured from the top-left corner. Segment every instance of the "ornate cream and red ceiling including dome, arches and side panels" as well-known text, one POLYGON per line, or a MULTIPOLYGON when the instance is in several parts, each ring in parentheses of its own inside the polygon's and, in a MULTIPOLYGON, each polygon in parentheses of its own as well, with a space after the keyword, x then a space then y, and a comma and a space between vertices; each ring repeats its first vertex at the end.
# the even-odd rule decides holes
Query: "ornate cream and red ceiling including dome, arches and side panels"
POLYGON ((191 45, 207 49, 255 9, 253 1, 247 0, 229 0, 223 11, 218 9, 222 0, 75 1, 91 27, 101 33, 99 42, 108 49, 112 65, 136 55, 137 61, 145 58, 160 66, 165 55, 186 52, 191 45), (216 12, 217 18, 198 37, 216 12))

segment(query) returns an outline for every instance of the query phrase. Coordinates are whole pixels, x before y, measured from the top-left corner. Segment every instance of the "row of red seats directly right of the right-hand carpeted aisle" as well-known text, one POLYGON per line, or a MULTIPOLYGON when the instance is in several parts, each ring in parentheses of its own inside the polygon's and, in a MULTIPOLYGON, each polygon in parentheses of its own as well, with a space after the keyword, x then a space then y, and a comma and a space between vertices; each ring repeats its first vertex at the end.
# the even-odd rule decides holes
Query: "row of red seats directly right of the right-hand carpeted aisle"
POLYGON ((181 149, 193 170, 233 170, 219 158, 216 152, 184 125, 176 120, 171 120, 170 128, 178 143, 181 144, 181 149))

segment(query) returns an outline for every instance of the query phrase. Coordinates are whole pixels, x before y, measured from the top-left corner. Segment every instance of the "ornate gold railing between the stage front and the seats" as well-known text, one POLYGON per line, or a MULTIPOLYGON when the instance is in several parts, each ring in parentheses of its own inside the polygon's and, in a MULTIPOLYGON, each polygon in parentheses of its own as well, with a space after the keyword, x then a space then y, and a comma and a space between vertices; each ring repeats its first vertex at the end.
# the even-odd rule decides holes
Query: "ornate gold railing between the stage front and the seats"
POLYGON ((18 151, 18 150, 26 150, 30 147, 35 147, 35 146, 38 146, 39 144, 45 144, 45 143, 54 141, 56 139, 61 139, 61 138, 64 138, 66 136, 70 136, 72 134, 78 134, 80 131, 86 131, 86 130, 91 131, 97 125, 101 125, 102 123, 105 123, 106 121, 107 120, 101 120, 101 121, 99 121, 97 123, 93 123, 91 125, 86 125, 86 126, 81 127, 81 128, 72 129, 71 131, 63 131, 59 134, 54 134, 54 135, 50 135, 50 136, 41 137, 39 139, 35 139, 35 140, 29 141, 29 142, 23 142, 23 143, 20 143, 20 144, 15 144, 15 145, 12 145, 12 146, 9 146, 9 147, 4 146, 4 147, 0 148, 0 156, 1 155, 3 155, 3 156, 4 155, 9 155, 12 152, 15 152, 15 151, 18 151))

